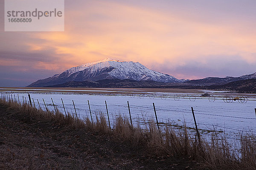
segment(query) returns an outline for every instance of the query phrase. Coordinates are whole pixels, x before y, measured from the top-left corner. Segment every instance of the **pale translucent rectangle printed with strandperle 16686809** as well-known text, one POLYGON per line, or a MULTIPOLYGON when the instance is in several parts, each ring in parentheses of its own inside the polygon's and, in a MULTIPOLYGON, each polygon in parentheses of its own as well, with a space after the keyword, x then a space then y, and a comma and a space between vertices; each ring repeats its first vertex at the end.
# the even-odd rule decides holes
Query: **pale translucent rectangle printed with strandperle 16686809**
POLYGON ((64 0, 5 0, 5 31, 64 31, 64 0))

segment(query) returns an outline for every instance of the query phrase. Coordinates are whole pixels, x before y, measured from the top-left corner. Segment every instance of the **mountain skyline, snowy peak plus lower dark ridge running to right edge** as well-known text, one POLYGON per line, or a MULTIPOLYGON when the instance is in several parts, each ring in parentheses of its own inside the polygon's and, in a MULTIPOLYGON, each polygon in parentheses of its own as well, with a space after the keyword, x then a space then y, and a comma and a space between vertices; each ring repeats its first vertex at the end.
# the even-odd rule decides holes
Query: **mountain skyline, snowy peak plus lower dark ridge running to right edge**
POLYGON ((107 58, 98 62, 90 62, 69 68, 52 77, 39 79, 27 87, 46 87, 67 82, 96 82, 104 79, 131 79, 138 82, 185 83, 185 85, 224 85, 229 82, 255 78, 256 73, 240 77, 206 77, 192 80, 177 79, 172 75, 148 69, 140 62, 126 62, 107 58))

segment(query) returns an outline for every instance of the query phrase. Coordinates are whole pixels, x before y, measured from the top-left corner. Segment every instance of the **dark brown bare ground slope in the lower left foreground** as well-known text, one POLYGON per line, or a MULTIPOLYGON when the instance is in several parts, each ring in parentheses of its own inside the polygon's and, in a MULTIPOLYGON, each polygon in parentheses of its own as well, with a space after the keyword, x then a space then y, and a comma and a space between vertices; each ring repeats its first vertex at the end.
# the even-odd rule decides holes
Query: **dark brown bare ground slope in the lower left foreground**
POLYGON ((0 104, 0 169, 197 170, 200 164, 0 104))

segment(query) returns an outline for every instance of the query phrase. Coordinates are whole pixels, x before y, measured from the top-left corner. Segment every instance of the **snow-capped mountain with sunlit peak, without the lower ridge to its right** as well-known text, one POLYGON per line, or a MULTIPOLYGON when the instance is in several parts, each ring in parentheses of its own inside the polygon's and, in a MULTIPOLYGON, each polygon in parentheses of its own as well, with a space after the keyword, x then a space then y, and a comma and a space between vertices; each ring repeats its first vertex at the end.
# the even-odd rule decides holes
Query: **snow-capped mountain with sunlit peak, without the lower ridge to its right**
POLYGON ((150 70, 139 62, 121 62, 107 58, 70 68, 61 74, 55 74, 53 77, 33 82, 28 87, 44 87, 70 81, 97 81, 101 79, 151 80, 156 82, 184 81, 168 74, 150 70))

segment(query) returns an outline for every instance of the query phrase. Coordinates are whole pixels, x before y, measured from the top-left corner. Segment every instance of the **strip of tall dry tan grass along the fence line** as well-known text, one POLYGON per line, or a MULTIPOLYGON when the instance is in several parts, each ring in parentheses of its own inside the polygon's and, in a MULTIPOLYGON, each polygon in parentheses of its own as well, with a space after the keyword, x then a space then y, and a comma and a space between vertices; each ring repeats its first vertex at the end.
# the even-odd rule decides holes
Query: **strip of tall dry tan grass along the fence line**
POLYGON ((211 143, 201 140, 201 144, 199 144, 196 136, 188 133, 186 124, 184 130, 179 132, 166 125, 163 132, 159 133, 153 121, 148 121, 146 130, 142 130, 140 128, 132 128, 126 117, 119 116, 115 120, 113 129, 110 129, 102 113, 98 113, 96 122, 92 123, 88 117, 82 121, 70 114, 64 116, 59 111, 57 113, 45 112, 29 105, 19 105, 16 102, 5 102, 3 100, 0 102, 17 108, 22 113, 29 114, 30 116, 53 120, 61 125, 85 128, 115 136, 134 148, 143 148, 148 150, 149 153, 196 161, 202 164, 205 169, 256 169, 256 141, 249 137, 241 137, 241 147, 233 150, 225 137, 218 139, 217 135, 212 136, 211 143))

